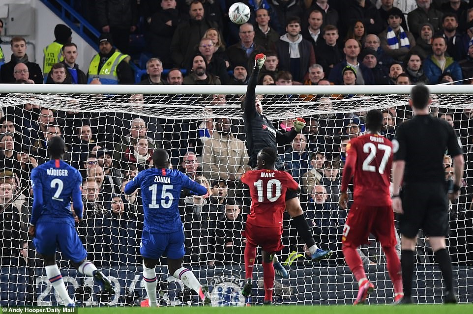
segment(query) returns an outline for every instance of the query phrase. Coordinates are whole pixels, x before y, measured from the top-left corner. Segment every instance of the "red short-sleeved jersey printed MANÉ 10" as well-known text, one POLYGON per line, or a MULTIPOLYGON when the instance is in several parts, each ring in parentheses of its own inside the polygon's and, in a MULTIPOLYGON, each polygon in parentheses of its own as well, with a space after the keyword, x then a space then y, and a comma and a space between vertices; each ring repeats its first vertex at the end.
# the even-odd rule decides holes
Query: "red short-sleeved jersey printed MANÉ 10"
POLYGON ((251 195, 251 210, 246 222, 259 227, 282 226, 286 191, 297 190, 291 174, 277 170, 251 170, 241 176, 251 195))

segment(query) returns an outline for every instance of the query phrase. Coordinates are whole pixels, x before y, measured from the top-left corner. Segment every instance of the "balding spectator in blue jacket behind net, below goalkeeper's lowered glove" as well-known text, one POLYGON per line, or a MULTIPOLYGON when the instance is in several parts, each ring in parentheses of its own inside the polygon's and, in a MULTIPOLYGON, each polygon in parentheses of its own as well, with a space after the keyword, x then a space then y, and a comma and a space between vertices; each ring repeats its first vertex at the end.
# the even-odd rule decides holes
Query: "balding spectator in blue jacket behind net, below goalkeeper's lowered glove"
POLYGON ((304 134, 297 134, 291 143, 291 148, 282 156, 284 169, 291 173, 297 183, 302 183, 302 176, 309 171, 309 154, 307 151, 307 137, 304 134))

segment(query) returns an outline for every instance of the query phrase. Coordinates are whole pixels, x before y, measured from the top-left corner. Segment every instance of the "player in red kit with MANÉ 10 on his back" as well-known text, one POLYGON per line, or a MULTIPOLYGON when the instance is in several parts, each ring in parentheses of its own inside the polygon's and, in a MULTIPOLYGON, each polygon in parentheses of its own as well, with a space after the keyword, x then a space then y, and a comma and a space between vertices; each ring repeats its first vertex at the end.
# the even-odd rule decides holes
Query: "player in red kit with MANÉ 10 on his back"
MULTIPOLYGON (((248 185, 251 195, 251 211, 244 230, 247 241, 244 253, 246 282, 241 294, 244 296, 251 294, 256 248, 261 246, 265 283, 264 304, 272 304, 275 276, 273 255, 284 247, 281 243, 281 235, 283 213, 286 209, 286 191, 300 191, 299 185, 291 174, 274 168, 276 159, 275 149, 263 148, 257 156, 258 169, 247 171, 241 176, 241 182, 248 185)), ((304 219, 302 209, 288 208, 288 213, 295 222, 298 219, 304 219)))

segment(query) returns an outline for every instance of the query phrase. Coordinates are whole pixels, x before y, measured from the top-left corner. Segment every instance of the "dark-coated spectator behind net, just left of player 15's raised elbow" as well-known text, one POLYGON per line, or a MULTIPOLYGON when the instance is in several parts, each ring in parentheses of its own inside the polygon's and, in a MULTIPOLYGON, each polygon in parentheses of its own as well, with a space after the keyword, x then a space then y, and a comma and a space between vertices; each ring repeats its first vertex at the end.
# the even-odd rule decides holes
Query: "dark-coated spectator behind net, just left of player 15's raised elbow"
POLYGON ((112 195, 111 210, 103 221, 102 255, 113 267, 128 267, 136 264, 138 237, 137 223, 130 212, 125 211, 124 201, 119 194, 112 195))

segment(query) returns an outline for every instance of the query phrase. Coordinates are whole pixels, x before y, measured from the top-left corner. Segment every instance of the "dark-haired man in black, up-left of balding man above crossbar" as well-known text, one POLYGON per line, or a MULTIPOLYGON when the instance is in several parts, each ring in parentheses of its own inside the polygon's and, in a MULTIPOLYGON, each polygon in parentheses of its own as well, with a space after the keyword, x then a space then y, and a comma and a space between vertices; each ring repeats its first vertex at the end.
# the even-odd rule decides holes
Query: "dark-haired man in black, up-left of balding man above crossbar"
POLYGON ((325 75, 328 77, 332 68, 342 62, 344 55, 338 47, 338 29, 333 25, 327 25, 323 29, 324 41, 317 47, 315 57, 317 62, 324 68, 325 75))

